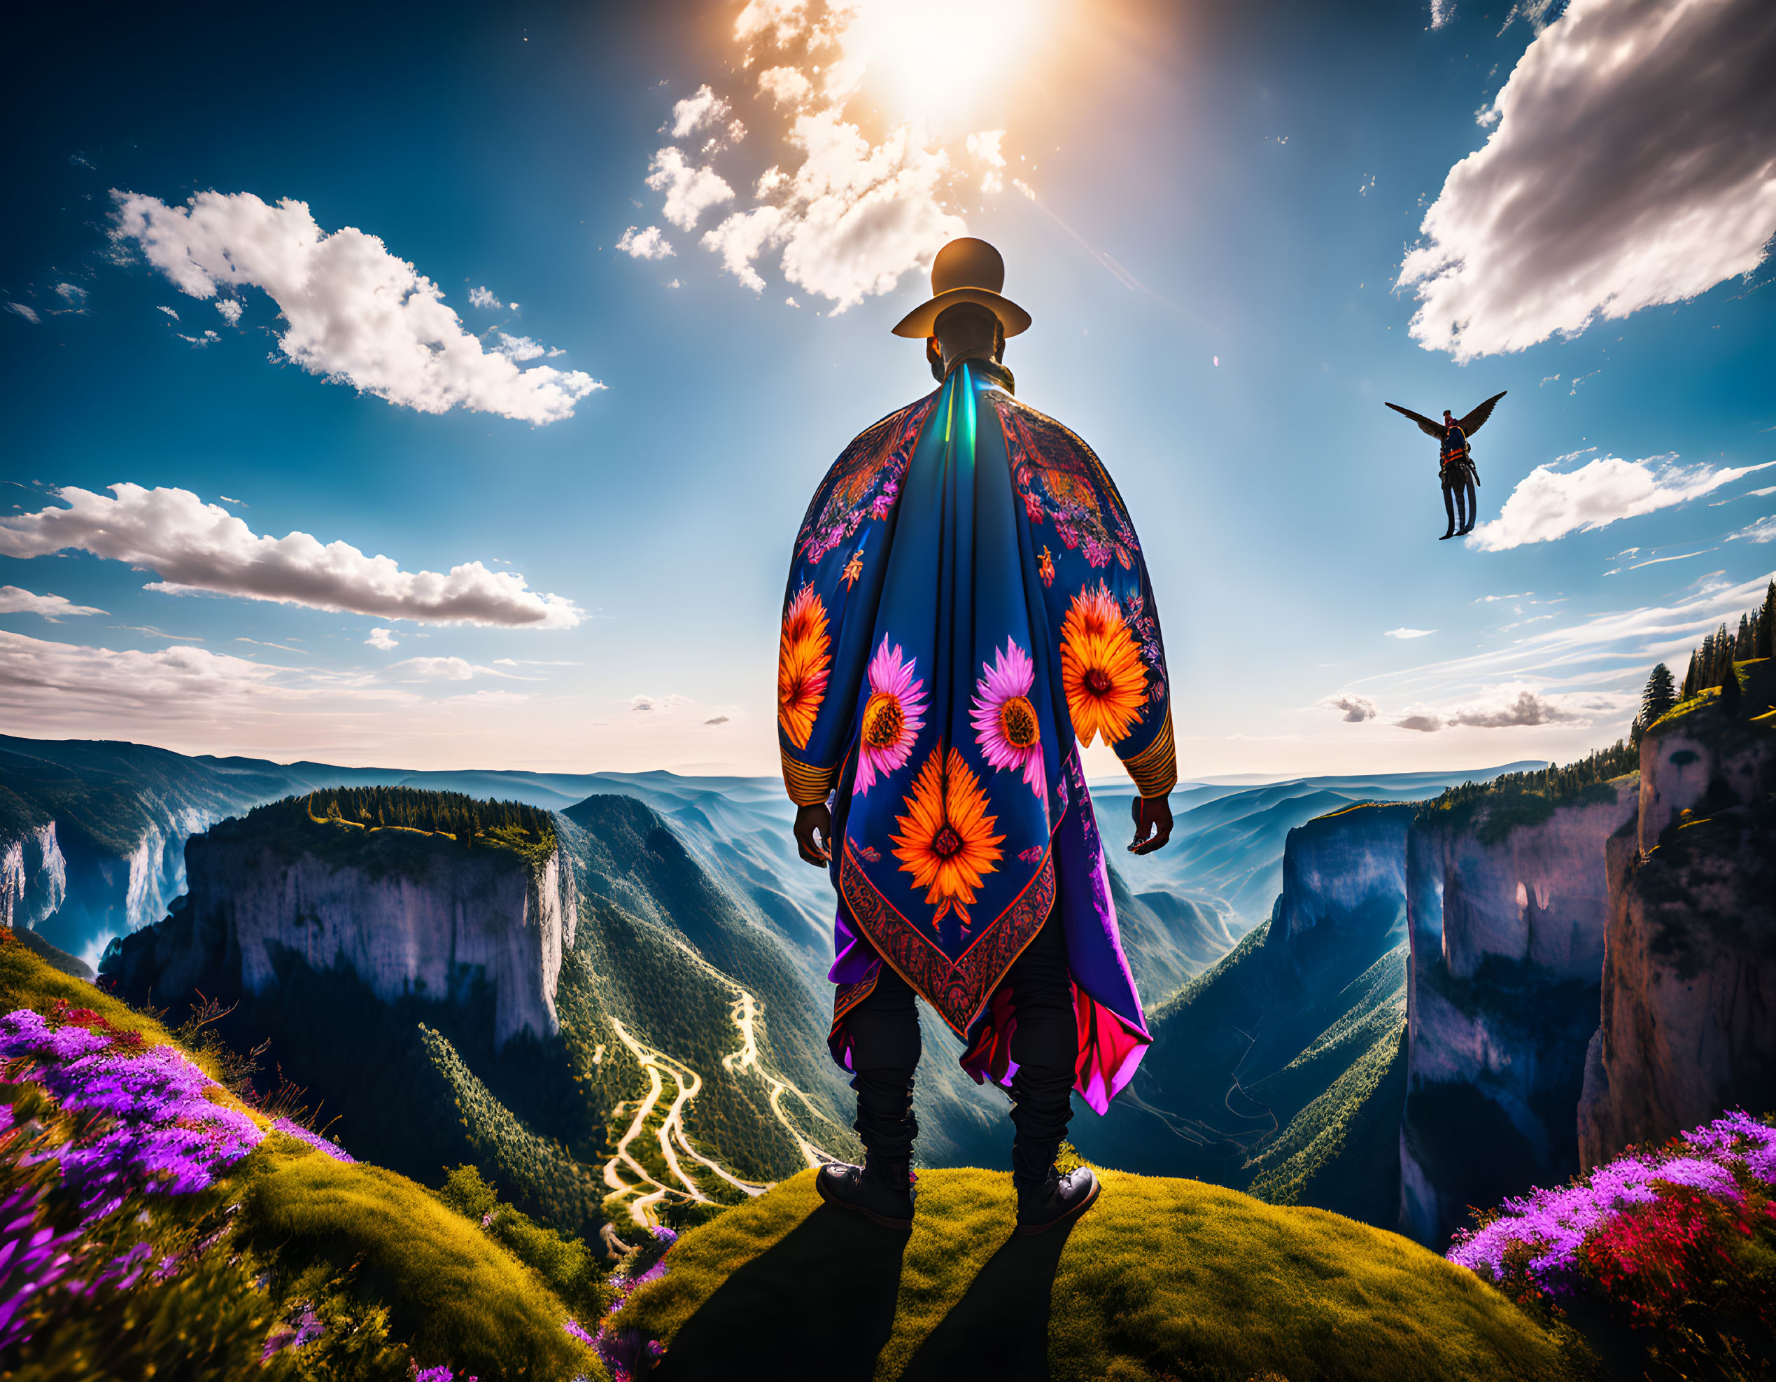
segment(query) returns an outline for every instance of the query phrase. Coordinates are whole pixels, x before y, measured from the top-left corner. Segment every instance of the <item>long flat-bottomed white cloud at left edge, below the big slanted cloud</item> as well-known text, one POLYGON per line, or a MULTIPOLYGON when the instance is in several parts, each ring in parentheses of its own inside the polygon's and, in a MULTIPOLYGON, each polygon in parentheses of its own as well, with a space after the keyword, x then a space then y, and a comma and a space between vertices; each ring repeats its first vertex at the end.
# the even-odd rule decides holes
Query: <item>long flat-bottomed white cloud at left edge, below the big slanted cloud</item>
POLYGON ((30 558, 75 549, 155 572, 162 581, 149 590, 240 595, 421 623, 572 629, 583 618, 572 600, 533 592, 517 572, 492 572, 480 561, 453 567, 448 576, 405 572, 392 558, 364 556, 345 542, 323 545, 307 533, 256 536, 242 519, 190 490, 110 490, 112 499, 62 488, 55 496, 67 508, 0 519, 0 554, 30 558))

